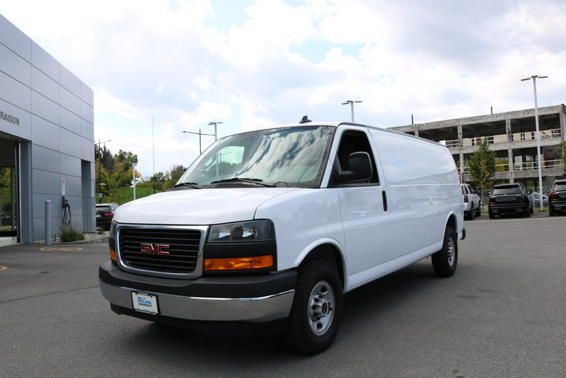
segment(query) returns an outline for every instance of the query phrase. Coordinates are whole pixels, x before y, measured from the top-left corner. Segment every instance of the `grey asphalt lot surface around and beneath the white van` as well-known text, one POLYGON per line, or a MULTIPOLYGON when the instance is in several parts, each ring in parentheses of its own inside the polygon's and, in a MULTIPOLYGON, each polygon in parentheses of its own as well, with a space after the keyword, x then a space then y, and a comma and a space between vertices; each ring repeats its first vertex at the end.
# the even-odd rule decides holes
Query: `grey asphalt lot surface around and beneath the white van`
POLYGON ((0 377, 566 377, 566 216, 465 226, 454 277, 425 259, 350 292, 313 357, 112 313, 103 244, 2 247, 0 377))

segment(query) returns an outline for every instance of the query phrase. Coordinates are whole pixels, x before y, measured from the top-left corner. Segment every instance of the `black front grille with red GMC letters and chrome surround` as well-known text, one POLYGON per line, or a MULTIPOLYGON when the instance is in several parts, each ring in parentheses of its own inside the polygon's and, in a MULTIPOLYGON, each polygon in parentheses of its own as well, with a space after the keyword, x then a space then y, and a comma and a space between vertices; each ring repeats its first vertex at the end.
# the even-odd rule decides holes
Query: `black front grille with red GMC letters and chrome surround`
POLYGON ((192 273, 197 266, 200 237, 201 232, 197 230, 122 228, 119 234, 120 257, 129 268, 192 273), (168 254, 155 253, 158 246, 168 246, 165 249, 168 254), (141 252, 148 250, 150 253, 141 252))

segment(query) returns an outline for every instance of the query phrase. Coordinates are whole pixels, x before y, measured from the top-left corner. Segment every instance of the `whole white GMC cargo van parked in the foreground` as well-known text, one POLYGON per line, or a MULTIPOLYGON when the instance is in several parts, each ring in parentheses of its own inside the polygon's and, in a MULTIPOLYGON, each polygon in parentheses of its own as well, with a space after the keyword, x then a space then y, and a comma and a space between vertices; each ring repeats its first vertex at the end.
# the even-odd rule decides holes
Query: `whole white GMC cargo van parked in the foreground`
POLYGON ((281 331, 315 354, 333 342, 346 292, 427 256, 453 275, 462 209, 441 144, 352 123, 235 134, 172 190, 117 209, 100 290, 117 314, 281 331))

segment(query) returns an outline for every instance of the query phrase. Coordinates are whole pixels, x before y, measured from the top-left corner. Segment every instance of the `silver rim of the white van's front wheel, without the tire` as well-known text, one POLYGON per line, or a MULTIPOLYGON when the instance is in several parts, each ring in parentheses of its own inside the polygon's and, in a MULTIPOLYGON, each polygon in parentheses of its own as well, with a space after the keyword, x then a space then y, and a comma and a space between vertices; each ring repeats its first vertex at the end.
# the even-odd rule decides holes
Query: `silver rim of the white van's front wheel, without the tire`
POLYGON ((308 326, 316 336, 323 335, 334 319, 335 296, 327 281, 318 282, 308 298, 308 326))

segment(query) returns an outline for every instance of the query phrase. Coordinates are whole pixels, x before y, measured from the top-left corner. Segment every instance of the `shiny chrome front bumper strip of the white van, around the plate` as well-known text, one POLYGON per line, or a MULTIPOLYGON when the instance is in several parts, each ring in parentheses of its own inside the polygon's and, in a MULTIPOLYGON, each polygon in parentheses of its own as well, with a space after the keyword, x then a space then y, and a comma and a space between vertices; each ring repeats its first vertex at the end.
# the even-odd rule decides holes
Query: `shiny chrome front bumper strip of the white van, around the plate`
MULTIPOLYGON (((139 290, 109 285, 100 280, 100 292, 110 303, 133 309, 132 292, 139 290)), ((263 322, 286 318, 291 311, 294 290, 265 297, 209 298, 182 297, 173 294, 146 292, 156 295, 159 315, 196 321, 250 321, 263 322)))

